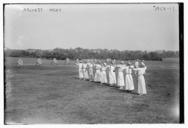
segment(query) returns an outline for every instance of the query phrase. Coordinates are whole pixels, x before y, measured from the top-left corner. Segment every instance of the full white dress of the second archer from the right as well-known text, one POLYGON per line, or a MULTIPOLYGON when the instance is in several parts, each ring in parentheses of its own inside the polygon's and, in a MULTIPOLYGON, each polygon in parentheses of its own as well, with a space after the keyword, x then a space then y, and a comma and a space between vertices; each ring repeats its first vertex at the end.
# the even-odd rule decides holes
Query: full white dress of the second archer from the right
POLYGON ((130 69, 129 67, 126 67, 125 69, 125 90, 134 90, 132 69, 130 69))

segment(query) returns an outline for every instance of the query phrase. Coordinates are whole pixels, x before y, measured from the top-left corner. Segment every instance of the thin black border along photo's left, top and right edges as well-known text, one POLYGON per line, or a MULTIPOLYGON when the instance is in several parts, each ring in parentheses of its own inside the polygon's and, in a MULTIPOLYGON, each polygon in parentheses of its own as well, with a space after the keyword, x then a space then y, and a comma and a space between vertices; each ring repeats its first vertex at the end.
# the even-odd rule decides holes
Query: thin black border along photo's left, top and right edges
MULTIPOLYGON (((179 66, 180 66, 180 124, 185 123, 185 115, 184 115, 184 3, 183 2, 139 2, 139 3, 126 3, 126 2, 118 2, 118 3, 3 3, 3 80, 4 80, 4 124, 5 124, 5 55, 4 55, 4 43, 5 43, 5 21, 4 21, 4 6, 7 4, 179 4, 179 66)), ((62 124, 63 125, 63 124, 62 124)))

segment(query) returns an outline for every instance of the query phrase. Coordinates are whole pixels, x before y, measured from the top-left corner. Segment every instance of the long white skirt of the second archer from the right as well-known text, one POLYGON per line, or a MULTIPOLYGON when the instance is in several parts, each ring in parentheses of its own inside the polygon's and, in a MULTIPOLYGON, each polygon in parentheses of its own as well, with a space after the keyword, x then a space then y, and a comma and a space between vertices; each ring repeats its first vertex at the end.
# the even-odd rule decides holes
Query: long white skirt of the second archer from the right
POLYGON ((125 90, 134 90, 134 82, 131 74, 125 75, 125 90))

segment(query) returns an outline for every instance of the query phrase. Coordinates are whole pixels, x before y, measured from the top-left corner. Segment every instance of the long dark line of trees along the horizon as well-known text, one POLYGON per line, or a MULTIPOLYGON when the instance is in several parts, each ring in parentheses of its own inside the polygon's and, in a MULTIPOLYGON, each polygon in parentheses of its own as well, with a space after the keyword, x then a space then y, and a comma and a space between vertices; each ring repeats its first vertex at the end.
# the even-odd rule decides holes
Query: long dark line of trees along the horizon
POLYGON ((160 60, 169 57, 179 57, 179 51, 132 51, 132 50, 108 50, 108 49, 62 49, 53 50, 41 49, 6 49, 5 56, 9 57, 35 57, 35 58, 56 58, 59 60, 69 59, 117 59, 117 60, 160 60))

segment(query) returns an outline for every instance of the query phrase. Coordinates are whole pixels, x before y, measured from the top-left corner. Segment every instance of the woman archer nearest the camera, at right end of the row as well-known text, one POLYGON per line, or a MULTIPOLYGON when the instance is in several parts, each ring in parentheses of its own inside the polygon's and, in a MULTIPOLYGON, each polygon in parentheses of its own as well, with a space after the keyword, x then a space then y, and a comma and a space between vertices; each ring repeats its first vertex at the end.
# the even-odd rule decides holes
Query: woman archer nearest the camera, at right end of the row
POLYGON ((140 62, 139 66, 137 66, 133 69, 136 71, 136 74, 137 74, 138 94, 139 95, 147 94, 146 83, 145 83, 145 78, 144 78, 146 69, 147 69, 147 67, 145 66, 144 62, 140 62))

